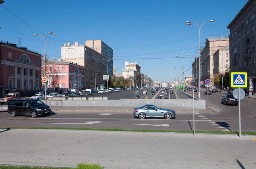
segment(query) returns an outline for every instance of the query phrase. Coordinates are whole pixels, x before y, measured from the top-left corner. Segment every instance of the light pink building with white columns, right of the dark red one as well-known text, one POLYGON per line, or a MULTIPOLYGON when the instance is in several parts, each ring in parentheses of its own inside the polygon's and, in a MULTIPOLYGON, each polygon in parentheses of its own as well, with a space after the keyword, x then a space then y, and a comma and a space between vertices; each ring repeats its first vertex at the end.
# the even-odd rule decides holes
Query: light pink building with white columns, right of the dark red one
MULTIPOLYGON (((44 66, 42 66, 44 69, 44 66)), ((73 62, 49 60, 46 65, 47 87, 64 90, 84 87, 84 67, 73 62)))

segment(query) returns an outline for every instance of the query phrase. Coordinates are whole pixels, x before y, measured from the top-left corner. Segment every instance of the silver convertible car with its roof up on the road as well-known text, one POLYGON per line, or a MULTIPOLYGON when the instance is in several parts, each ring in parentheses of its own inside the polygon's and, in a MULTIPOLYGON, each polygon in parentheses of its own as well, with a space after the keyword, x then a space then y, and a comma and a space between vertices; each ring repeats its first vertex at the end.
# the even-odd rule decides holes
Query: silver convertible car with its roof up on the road
POLYGON ((176 117, 175 110, 164 109, 153 104, 145 104, 142 107, 134 108, 134 117, 144 119, 146 117, 163 117, 171 119, 176 117))

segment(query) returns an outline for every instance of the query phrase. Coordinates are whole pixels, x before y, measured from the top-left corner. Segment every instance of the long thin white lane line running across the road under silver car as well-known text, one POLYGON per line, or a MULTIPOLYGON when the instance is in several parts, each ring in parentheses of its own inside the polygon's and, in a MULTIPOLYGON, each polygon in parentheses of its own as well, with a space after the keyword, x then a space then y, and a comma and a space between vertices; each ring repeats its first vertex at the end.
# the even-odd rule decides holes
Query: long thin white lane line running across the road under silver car
MULTIPOLYGON (((28 118, 29 120, 141 120, 131 118, 28 118)), ((145 119, 145 120, 166 120, 166 119, 145 119)), ((172 119, 170 121, 192 121, 193 119, 172 119)), ((211 121, 211 120, 195 120, 195 121, 211 121)))

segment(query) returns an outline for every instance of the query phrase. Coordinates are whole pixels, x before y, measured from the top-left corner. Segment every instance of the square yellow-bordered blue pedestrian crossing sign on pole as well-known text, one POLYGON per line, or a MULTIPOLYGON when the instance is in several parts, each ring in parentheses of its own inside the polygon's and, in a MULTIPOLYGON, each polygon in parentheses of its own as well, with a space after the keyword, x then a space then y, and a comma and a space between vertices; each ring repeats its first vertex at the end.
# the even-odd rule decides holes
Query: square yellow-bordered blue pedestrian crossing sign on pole
POLYGON ((231 72, 231 87, 247 87, 247 72, 231 72))

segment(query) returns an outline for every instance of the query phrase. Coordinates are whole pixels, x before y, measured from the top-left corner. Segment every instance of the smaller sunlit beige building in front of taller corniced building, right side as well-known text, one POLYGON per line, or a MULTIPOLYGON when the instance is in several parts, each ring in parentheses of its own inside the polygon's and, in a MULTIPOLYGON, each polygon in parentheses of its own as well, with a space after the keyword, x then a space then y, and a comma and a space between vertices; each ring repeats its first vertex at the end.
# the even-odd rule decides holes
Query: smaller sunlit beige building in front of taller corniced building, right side
POLYGON ((229 47, 219 48, 213 54, 213 74, 221 73, 225 74, 229 72, 230 68, 230 57, 229 57, 229 47))

